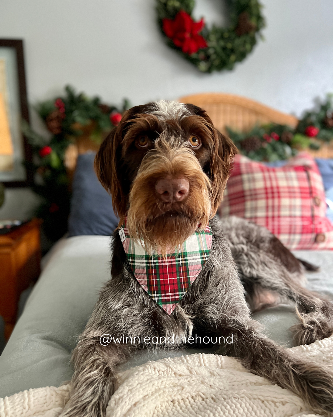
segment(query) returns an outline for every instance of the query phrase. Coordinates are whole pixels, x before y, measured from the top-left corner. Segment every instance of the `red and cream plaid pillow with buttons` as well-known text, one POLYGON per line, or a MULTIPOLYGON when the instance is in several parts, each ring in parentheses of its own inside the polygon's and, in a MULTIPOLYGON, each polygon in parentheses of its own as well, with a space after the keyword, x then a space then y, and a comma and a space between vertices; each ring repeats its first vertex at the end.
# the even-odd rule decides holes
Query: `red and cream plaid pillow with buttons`
POLYGON ((220 216, 264 226, 288 249, 333 249, 333 224, 325 214, 323 181, 308 153, 281 168, 236 155, 220 216))

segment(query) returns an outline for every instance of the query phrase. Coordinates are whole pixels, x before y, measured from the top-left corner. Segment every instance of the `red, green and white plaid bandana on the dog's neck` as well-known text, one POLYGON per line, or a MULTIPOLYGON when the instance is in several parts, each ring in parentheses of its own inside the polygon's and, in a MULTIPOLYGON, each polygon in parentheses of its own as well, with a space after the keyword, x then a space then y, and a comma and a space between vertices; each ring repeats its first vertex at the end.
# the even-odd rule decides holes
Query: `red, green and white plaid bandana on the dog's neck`
POLYGON ((206 263, 211 250, 211 227, 196 231, 181 245, 179 252, 148 254, 139 242, 129 237, 125 224, 119 236, 133 274, 142 288, 171 314, 206 263))

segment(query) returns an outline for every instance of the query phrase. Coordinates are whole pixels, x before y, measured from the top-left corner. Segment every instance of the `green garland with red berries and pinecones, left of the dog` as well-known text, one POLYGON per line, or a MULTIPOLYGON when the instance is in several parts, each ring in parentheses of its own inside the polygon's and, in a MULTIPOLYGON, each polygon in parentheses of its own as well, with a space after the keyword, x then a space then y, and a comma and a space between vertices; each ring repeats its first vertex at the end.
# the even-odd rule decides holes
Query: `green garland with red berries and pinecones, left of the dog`
POLYGON ((101 103, 98 97, 88 98, 83 93, 67 86, 65 95, 36 106, 51 138, 40 136, 27 123, 22 131, 32 146, 32 163, 27 168, 34 173, 32 190, 42 197, 42 203, 34 215, 43 219, 46 236, 55 241, 67 231, 70 211, 70 188, 64 165, 65 151, 75 138, 82 135, 86 126, 90 138, 101 143, 104 136, 114 128, 121 113, 129 108, 124 100, 122 108, 101 103))

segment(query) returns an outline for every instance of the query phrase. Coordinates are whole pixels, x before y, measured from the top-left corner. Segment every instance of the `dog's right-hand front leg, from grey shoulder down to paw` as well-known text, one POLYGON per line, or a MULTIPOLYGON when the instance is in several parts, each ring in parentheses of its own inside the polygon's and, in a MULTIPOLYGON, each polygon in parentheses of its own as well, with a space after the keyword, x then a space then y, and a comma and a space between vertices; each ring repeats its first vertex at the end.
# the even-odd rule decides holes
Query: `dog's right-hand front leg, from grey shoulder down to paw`
MULTIPOLYGON (((254 374, 299 395, 314 411, 332 413, 333 373, 297 357, 261 333, 261 325, 250 317, 243 287, 232 259, 228 257, 228 248, 223 246, 223 241, 217 243, 220 244, 216 244, 216 249, 222 250, 211 251, 207 262, 207 275, 202 280, 206 286, 196 307, 195 325, 206 328, 207 336, 213 334, 218 340, 225 338, 225 341, 220 339, 216 353, 236 357, 254 374)), ((199 284, 200 281, 194 282, 192 291, 199 284)))

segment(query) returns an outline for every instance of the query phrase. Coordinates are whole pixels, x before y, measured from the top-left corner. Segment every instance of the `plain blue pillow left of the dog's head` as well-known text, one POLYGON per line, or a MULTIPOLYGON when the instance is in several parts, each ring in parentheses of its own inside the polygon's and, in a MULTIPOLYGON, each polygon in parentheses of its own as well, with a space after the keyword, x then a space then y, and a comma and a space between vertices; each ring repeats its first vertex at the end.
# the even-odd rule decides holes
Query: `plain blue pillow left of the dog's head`
POLYGON ((94 171, 95 153, 79 155, 72 184, 68 237, 110 236, 119 219, 112 209, 112 198, 94 171))

